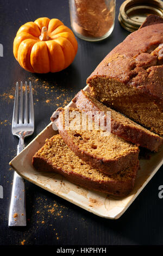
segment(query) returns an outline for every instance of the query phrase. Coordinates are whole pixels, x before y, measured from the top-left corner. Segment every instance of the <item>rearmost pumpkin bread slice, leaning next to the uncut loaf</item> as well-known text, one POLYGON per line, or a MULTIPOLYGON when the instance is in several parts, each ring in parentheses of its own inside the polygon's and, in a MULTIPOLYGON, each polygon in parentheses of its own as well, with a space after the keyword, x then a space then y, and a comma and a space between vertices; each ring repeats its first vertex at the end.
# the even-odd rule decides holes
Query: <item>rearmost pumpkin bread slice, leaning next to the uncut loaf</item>
POLYGON ((158 151, 160 145, 163 143, 163 138, 159 135, 136 124, 134 121, 124 117, 124 115, 114 111, 110 107, 106 107, 103 103, 96 100, 95 97, 92 97, 83 90, 80 90, 72 101, 80 110, 92 111, 92 113, 111 111, 111 132, 126 139, 126 141, 133 142, 134 144, 155 152, 158 151))

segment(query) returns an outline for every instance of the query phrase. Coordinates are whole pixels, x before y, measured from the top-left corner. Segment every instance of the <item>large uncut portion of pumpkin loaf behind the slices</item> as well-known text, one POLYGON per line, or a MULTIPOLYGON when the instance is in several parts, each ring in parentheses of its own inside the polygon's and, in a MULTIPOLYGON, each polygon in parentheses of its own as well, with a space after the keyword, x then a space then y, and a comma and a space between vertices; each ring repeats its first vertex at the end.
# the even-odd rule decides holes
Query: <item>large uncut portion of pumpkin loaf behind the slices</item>
POLYGON ((91 95, 163 135, 163 20, 151 15, 87 78, 91 95))

